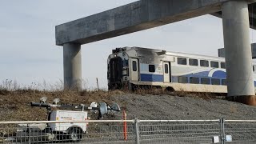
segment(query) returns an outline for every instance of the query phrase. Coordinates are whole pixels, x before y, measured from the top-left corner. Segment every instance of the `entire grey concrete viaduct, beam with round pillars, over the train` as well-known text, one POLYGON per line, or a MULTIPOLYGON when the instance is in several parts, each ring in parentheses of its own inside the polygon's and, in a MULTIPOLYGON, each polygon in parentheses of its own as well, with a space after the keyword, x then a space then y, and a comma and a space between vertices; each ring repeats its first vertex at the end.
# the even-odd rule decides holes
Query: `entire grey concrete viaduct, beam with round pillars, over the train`
POLYGON ((81 89, 82 44, 213 14, 223 22, 228 96, 242 96, 247 103, 256 104, 249 34, 250 27, 256 28, 254 2, 256 0, 140 0, 58 25, 56 45, 63 46, 64 86, 81 89))

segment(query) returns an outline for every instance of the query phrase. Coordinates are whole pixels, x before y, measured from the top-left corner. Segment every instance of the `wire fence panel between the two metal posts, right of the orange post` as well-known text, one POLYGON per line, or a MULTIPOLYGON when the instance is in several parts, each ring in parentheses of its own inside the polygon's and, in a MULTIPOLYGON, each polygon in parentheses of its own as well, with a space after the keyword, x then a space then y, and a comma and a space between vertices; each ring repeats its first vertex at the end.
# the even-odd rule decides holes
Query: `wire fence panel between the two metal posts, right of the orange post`
POLYGON ((141 143, 212 143, 221 134, 218 120, 141 121, 141 143))

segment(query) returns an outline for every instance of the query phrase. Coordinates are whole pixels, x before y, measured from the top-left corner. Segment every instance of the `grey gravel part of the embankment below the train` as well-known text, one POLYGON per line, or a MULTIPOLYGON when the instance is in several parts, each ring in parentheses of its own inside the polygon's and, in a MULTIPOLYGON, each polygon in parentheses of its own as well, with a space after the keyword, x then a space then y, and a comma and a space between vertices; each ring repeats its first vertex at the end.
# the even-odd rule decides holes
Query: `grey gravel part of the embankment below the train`
POLYGON ((124 94, 113 100, 123 103, 128 119, 256 119, 255 106, 222 99, 124 94))

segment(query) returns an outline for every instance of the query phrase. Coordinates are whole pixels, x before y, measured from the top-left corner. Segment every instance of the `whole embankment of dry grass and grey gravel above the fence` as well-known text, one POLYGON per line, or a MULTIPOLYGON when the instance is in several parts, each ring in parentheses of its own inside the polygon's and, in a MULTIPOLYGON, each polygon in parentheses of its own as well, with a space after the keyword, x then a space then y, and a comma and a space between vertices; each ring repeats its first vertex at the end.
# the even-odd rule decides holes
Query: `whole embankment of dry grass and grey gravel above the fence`
MULTIPOLYGON (((187 94, 142 94, 115 91, 46 92, 38 90, 0 91, 0 121, 46 120, 45 108, 31 107, 42 96, 47 102, 60 98, 63 103, 86 104, 90 102, 118 103, 126 110, 128 119, 256 119, 256 107, 224 98, 187 94), (179 95, 179 96, 177 96, 179 95)), ((94 119, 96 116, 90 116, 94 119)), ((106 119, 122 119, 122 112, 110 114, 106 119)))

